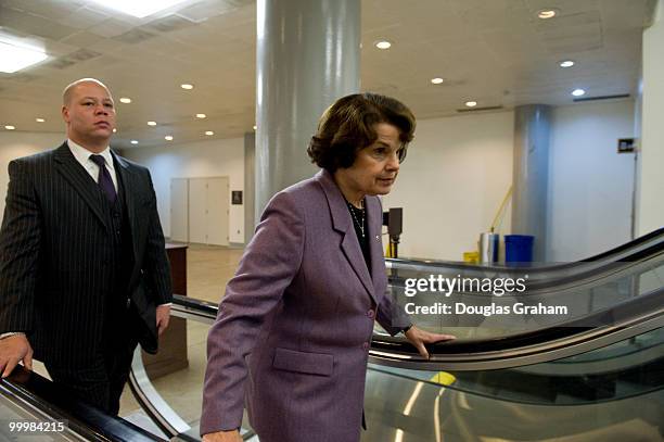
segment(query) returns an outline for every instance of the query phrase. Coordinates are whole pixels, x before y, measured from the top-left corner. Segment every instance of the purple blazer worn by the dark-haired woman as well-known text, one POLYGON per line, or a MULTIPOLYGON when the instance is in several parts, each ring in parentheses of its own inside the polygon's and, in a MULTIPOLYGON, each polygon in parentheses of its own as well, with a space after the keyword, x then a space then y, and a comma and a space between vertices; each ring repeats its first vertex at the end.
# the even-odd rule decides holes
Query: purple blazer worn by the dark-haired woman
POLYGON ((201 434, 240 427, 246 397, 261 442, 359 440, 373 321, 408 325, 386 295, 381 202, 366 207, 371 269, 327 171, 269 202, 209 330, 201 434))

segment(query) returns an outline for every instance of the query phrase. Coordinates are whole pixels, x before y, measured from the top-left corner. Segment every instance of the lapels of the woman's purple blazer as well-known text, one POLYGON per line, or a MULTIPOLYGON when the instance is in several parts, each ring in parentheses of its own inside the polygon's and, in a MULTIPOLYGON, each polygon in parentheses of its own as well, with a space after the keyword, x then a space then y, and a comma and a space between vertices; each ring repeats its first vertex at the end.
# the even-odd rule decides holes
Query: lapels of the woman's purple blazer
MULTIPOLYGON (((367 289, 367 293, 369 293, 373 301, 378 303, 375 288, 371 280, 371 275, 369 275, 369 269, 365 264, 365 256, 362 255, 359 242, 355 237, 353 220, 350 219, 350 214, 348 213, 348 207, 346 207, 346 202, 341 190, 332 179, 332 175, 325 169, 321 169, 318 174, 316 174, 316 180, 322 187, 325 198, 328 199, 330 213, 332 215, 332 226, 343 236, 341 248, 346 256, 346 260, 348 260, 350 267, 353 267, 353 270, 357 277, 360 279, 360 281, 362 281, 365 289, 367 289)), ((372 233, 371 223, 369 223, 369 235, 375 235, 372 233)), ((374 258, 374 249, 375 245, 373 244, 373 241, 371 241, 370 250, 372 264, 376 261, 374 258)), ((375 267, 375 265, 373 264, 372 267, 375 267)))

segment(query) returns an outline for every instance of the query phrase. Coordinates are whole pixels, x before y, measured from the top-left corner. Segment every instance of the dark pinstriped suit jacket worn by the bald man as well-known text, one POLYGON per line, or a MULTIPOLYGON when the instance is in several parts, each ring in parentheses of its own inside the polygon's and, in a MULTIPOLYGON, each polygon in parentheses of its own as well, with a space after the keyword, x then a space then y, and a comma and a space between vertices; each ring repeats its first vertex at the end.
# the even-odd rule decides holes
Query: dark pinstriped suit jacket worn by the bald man
MULTIPOLYGON (((127 292, 156 351, 155 305, 170 302, 170 269, 150 172, 115 154, 133 268, 127 292)), ((24 331, 35 357, 89 361, 102 345, 114 263, 102 193, 68 146, 12 161, 0 230, 0 332, 24 331)), ((117 324, 117 327, 126 324, 117 324)))

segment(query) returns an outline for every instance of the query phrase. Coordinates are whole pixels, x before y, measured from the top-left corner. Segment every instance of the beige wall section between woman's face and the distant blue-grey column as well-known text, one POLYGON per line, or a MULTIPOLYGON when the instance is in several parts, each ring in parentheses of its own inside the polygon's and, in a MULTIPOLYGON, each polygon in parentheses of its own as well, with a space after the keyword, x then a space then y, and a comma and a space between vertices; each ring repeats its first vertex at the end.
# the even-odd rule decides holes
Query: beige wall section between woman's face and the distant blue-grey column
MULTIPOLYGON (((476 249, 512 184, 513 112, 419 121, 393 192, 404 207, 401 256, 461 261, 476 249)), ((510 231, 510 209, 500 232, 510 231)))

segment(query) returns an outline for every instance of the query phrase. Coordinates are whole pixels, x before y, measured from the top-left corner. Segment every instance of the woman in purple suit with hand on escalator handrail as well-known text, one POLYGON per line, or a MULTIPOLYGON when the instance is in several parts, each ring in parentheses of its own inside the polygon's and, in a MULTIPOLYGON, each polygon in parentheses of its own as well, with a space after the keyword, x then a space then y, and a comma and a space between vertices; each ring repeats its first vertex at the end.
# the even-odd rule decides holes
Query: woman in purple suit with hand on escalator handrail
POLYGON ((382 209, 416 121, 373 93, 330 106, 307 150, 321 167, 276 194, 228 283, 207 341, 201 434, 240 441, 244 400, 261 442, 355 442, 373 323, 424 344, 387 293, 382 209))

